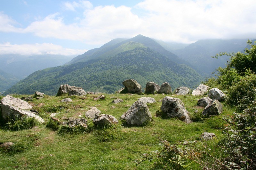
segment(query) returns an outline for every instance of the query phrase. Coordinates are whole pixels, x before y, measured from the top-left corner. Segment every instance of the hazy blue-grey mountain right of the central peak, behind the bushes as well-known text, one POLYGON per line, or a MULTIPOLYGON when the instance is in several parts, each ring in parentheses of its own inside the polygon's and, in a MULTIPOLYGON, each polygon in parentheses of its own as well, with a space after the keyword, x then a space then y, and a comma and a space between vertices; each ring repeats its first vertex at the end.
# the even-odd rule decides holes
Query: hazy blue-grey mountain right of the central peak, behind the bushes
POLYGON ((243 52, 247 40, 200 40, 185 48, 174 50, 173 53, 191 63, 194 69, 204 76, 210 76, 218 67, 225 67, 228 56, 212 58, 220 52, 243 52), (197 67, 197 68, 195 68, 197 67))

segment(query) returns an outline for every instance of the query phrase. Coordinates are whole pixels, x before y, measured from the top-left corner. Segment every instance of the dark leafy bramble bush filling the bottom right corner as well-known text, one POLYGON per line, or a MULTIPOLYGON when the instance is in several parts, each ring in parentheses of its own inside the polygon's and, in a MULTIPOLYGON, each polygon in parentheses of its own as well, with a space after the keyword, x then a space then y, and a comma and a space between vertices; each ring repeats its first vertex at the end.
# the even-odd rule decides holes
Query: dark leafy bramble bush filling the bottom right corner
POLYGON ((227 122, 222 145, 224 152, 229 156, 225 164, 231 169, 256 168, 256 103, 253 102, 249 109, 243 113, 234 113, 225 117, 227 122))

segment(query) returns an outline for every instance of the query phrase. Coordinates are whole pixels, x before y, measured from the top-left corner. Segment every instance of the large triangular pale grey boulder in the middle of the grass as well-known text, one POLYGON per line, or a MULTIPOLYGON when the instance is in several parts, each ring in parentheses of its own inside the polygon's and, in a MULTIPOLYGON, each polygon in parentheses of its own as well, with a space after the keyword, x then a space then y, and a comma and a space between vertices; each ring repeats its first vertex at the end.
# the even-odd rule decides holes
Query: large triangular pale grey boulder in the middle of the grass
POLYGON ((145 122, 151 121, 152 115, 148 109, 147 103, 143 100, 137 100, 120 119, 125 120, 127 125, 140 126, 145 122))

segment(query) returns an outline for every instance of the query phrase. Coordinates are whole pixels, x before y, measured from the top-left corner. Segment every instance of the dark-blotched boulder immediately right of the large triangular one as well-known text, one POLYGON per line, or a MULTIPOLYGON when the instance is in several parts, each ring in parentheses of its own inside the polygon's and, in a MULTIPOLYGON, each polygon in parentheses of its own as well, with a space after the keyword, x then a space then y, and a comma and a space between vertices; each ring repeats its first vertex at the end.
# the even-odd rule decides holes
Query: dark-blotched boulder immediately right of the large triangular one
POLYGON ((185 109, 184 103, 179 98, 166 96, 162 101, 160 109, 163 115, 179 118, 187 123, 191 122, 188 115, 189 112, 185 109))

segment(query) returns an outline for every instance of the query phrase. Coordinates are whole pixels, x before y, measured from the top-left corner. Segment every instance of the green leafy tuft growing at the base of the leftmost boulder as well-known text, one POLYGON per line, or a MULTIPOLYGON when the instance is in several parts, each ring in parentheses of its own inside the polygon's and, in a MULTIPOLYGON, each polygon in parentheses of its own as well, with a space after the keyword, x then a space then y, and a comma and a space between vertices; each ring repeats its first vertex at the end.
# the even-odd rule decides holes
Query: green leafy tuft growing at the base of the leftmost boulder
POLYGON ((37 121, 35 117, 20 117, 19 119, 16 119, 12 122, 7 122, 4 125, 5 129, 12 130, 12 131, 18 131, 18 130, 25 130, 25 129, 31 129, 34 126, 36 126, 37 121))

